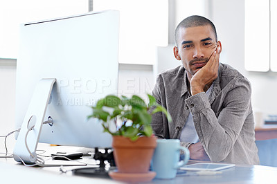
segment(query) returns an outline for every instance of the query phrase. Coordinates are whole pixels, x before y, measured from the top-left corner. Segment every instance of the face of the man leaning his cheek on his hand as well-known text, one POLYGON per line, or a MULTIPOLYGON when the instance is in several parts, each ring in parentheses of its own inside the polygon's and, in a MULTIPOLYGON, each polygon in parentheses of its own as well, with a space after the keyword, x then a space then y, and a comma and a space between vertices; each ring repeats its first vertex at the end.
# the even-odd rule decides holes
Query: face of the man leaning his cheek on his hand
POLYGON ((210 25, 179 28, 177 40, 178 48, 175 46, 174 54, 186 68, 189 80, 206 65, 215 48, 218 45, 221 47, 220 42, 216 42, 210 25))

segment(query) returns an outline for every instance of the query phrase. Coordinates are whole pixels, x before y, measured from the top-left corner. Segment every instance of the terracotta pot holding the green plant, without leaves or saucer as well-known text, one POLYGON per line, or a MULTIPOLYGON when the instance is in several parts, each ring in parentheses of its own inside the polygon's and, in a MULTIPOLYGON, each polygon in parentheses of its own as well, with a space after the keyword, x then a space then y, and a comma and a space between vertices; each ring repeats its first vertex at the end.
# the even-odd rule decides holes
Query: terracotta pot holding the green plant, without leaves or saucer
POLYGON ((120 173, 148 173, 157 146, 157 138, 140 137, 136 141, 113 136, 114 159, 120 173))

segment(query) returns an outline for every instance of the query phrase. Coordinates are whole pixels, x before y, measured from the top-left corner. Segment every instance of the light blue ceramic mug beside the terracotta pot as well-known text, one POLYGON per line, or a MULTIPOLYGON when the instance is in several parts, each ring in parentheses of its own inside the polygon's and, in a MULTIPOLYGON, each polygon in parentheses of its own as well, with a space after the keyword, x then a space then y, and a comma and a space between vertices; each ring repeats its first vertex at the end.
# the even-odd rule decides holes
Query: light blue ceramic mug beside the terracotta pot
POLYGON ((190 151, 181 147, 179 139, 158 139, 157 147, 152 157, 152 170, 156 172, 155 178, 175 178, 177 169, 186 165, 190 158, 190 151), (180 150, 184 151, 184 160, 180 160, 180 150))

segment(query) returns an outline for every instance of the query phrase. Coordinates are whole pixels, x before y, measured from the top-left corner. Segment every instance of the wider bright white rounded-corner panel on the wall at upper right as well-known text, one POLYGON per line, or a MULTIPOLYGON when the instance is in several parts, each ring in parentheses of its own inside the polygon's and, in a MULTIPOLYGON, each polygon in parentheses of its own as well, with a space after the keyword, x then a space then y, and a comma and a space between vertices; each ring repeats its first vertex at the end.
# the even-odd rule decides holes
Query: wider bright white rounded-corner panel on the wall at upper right
POLYGON ((245 0, 244 66, 247 71, 277 71, 276 1, 245 0), (271 12, 269 9, 271 8, 271 12))

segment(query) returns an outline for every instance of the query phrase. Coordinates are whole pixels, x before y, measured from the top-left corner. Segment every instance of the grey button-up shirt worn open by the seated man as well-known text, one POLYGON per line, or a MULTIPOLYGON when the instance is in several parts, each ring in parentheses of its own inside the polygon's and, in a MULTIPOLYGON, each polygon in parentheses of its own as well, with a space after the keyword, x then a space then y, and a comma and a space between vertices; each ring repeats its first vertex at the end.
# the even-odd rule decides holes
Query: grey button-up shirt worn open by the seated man
MULTIPOLYGON (((179 139, 191 112, 199 141, 212 162, 259 164, 250 82, 231 66, 220 63, 211 94, 191 96, 185 77, 183 66, 157 77, 152 95, 168 110, 172 122, 162 113, 154 113, 154 134, 179 139)), ((190 142, 181 145, 188 147, 190 142)))

